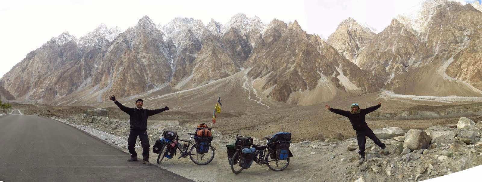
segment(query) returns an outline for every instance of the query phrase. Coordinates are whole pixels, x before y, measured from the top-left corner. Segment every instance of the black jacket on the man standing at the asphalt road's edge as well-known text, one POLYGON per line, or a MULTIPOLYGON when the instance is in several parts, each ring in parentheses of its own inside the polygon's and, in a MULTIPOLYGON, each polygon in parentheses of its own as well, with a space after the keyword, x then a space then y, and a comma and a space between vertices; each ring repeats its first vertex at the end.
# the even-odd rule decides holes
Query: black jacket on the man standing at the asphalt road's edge
POLYGON ((124 111, 130 116, 129 121, 131 122, 131 130, 147 130, 147 117, 161 113, 162 111, 166 110, 165 108, 154 110, 137 109, 126 107, 120 104, 119 101, 116 101, 114 103, 119 106, 120 110, 124 111))

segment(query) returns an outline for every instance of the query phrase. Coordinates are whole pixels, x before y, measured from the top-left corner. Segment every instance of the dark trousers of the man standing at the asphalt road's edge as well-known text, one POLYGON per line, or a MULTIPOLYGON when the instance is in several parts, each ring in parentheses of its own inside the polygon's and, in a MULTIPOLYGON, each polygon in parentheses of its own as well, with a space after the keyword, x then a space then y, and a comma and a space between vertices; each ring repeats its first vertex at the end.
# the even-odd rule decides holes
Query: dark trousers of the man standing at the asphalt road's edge
POLYGON ((129 133, 129 138, 127 139, 127 145, 129 149, 129 153, 133 157, 137 156, 137 153, 135 152, 134 145, 135 141, 137 140, 137 136, 139 136, 139 139, 141 140, 141 146, 142 146, 142 157, 144 160, 149 160, 149 138, 147 138, 147 131, 146 130, 131 130, 129 133))

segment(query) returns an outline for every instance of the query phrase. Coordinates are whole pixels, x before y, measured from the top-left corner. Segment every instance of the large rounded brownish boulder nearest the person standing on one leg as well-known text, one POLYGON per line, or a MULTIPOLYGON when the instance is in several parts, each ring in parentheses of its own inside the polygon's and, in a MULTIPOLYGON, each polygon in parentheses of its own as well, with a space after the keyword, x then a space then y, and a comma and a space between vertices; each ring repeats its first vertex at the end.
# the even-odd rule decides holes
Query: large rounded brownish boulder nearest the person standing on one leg
POLYGON ((432 138, 422 130, 412 129, 405 133, 405 140, 403 141, 403 148, 410 150, 427 149, 432 138))

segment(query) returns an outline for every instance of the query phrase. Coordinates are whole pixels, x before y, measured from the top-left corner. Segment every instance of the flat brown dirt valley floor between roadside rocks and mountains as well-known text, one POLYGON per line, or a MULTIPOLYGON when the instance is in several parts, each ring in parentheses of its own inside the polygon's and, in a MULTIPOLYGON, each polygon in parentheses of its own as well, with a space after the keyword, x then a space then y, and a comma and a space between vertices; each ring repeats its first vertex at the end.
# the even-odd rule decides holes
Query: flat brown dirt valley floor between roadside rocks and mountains
MULTIPOLYGON (((423 97, 423 96, 420 96, 423 97)), ((222 134, 243 134, 254 137, 264 137, 279 131, 292 132, 294 140, 312 140, 319 135, 342 133, 347 137, 355 136, 355 131, 350 125, 348 118, 336 115, 325 109, 325 104, 333 108, 348 110, 351 103, 360 104, 361 108, 369 107, 382 102, 382 106, 376 110, 380 113, 400 114, 403 111, 437 111, 457 105, 473 105, 482 102, 482 98, 421 98, 401 97, 387 92, 376 92, 353 98, 340 99, 330 103, 319 103, 309 106, 296 106, 272 108, 267 110, 253 110, 250 112, 234 112, 229 106, 223 106, 221 113, 217 115, 217 122, 213 128, 222 134)), ((112 104, 112 103, 110 103, 112 104)), ((134 107, 134 105, 125 104, 134 107)), ((67 118, 77 114, 85 114, 86 110, 92 110, 93 106, 49 106, 45 104, 13 104, 14 109, 19 109, 23 114, 38 115, 44 117, 67 118)), ((117 106, 104 107, 109 110, 109 117, 128 120, 129 116, 123 113, 117 106)), ((481 120, 482 116, 472 114, 469 118, 481 120)), ((158 115, 149 117, 149 121, 177 121, 188 125, 199 123, 211 123, 212 113, 193 111, 181 111, 171 109, 158 115)), ((445 126, 456 124, 459 117, 436 118, 436 119, 367 119, 370 128, 383 128, 387 126, 399 127, 403 130, 425 129, 434 125, 445 126)))

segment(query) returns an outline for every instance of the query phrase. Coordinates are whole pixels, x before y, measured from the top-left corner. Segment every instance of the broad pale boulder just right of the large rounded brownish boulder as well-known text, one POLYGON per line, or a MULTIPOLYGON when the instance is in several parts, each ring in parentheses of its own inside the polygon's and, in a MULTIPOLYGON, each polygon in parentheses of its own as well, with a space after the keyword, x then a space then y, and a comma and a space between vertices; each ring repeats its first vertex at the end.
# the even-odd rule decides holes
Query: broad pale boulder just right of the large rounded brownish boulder
POLYGON ((448 144, 455 143, 457 141, 455 139, 455 136, 457 136, 457 130, 449 127, 432 126, 428 127, 425 132, 432 138, 430 143, 448 144))

